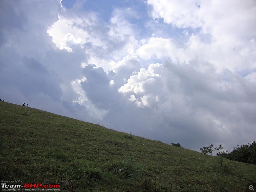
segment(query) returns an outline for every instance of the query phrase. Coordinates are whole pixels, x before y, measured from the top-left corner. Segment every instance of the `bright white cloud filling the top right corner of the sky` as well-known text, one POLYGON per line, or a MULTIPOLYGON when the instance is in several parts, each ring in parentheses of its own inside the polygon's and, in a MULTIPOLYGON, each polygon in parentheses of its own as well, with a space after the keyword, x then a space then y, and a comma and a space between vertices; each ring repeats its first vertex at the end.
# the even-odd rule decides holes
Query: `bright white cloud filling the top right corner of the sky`
POLYGON ((202 57, 219 68, 231 71, 249 69, 252 72, 255 69, 254 60, 251 59, 255 58, 255 2, 147 2, 153 7, 152 17, 163 18, 164 22, 178 28, 199 29, 199 33, 191 34, 189 41, 172 59, 177 57, 183 62, 184 59, 188 61, 186 57, 202 57), (235 16, 234 12, 237 12, 235 16))

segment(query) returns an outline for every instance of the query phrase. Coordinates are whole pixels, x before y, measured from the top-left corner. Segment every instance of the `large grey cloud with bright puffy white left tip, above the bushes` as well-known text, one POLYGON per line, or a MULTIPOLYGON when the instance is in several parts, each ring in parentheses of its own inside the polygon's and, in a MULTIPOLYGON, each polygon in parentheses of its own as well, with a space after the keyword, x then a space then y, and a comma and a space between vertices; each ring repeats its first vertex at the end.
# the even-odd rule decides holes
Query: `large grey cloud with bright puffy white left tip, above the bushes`
POLYGON ((239 135, 253 140, 254 83, 229 70, 216 70, 214 65, 200 60, 151 64, 131 76, 119 93, 137 107, 147 108, 150 137, 165 142, 182 138, 192 148, 198 137, 202 145, 228 140, 227 147, 234 145, 232 138, 239 135))

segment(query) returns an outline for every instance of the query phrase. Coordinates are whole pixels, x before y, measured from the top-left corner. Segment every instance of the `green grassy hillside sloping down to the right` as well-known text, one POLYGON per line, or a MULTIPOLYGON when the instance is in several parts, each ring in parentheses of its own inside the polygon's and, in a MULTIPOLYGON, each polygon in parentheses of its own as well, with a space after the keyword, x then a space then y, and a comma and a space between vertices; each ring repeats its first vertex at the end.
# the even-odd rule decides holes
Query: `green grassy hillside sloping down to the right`
POLYGON ((245 191, 256 166, 0 102, 0 177, 61 191, 245 191), (2 139, 3 138, 3 139, 2 139))

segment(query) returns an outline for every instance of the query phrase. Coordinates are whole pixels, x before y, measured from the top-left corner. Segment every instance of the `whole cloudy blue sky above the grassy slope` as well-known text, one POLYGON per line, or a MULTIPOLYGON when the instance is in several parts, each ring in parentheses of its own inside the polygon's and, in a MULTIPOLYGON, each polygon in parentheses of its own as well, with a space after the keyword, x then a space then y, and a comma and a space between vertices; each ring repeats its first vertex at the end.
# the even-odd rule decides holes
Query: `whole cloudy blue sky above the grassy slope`
POLYGON ((164 143, 255 139, 255 0, 1 0, 0 98, 164 143))

